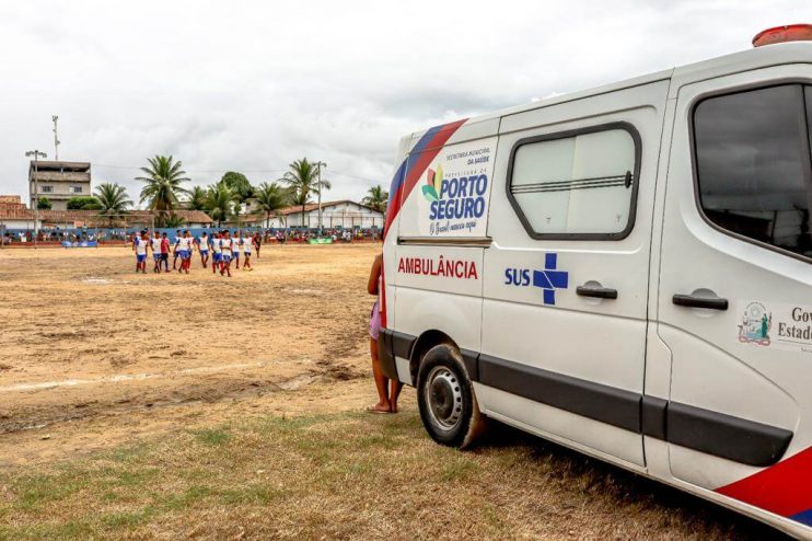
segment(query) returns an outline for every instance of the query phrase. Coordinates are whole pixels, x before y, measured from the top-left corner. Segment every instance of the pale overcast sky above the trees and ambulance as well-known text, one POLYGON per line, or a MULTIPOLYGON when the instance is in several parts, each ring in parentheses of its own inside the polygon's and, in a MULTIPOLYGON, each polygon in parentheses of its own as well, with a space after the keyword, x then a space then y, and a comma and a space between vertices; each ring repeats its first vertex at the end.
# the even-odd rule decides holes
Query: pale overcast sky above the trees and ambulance
POLYGON ((326 199, 388 187, 410 131, 750 48, 809 0, 3 1, 0 194, 26 150, 123 183, 147 157, 193 184, 327 163, 326 199))

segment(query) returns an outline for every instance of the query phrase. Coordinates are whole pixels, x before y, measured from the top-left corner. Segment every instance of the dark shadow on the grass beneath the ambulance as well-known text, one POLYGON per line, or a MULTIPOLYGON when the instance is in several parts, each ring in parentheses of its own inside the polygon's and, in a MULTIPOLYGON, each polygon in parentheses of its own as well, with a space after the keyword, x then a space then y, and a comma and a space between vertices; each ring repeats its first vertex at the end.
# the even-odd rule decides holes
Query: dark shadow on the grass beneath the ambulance
MULTIPOLYGON (((488 431, 476 450, 496 450, 524 447, 531 457, 546 460, 554 470, 567 471, 570 476, 589 476, 599 488, 614 493, 618 506, 654 505, 668 514, 678 514, 695 522, 715 525, 743 541, 789 540, 790 537, 763 522, 734 513, 619 467, 587 457, 553 441, 533 436, 502 423, 489 419, 488 431)), ((475 450, 475 451, 476 451, 475 450)))

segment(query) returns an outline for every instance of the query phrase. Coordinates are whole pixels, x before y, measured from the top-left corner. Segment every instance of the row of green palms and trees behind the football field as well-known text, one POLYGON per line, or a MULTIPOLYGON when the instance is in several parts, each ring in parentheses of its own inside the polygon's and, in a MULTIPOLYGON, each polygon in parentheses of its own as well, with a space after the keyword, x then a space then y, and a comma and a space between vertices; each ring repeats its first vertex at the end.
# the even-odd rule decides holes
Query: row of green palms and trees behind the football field
MULTIPOLYGON (((176 210, 202 210, 218 226, 224 221, 235 219, 244 209, 251 207, 254 212, 262 212, 266 227, 270 218, 280 216, 279 210, 290 206, 301 206, 302 223, 304 223, 305 206, 312 203, 312 196, 320 189, 330 189, 332 184, 321 179, 320 163, 306 158, 295 160, 288 165, 288 171, 272 182, 263 182, 253 185, 248 179, 239 172, 229 171, 216 183, 209 186, 184 187, 190 182, 183 170, 183 162, 172 156, 155 156, 148 158, 148 165, 141 168, 141 174, 135 180, 143 183, 139 203, 147 204, 147 209, 156 214, 158 227, 175 228, 184 223, 184 219, 175 214, 176 210), (321 180, 320 180, 321 179, 321 180)), ((379 210, 386 211, 388 194, 380 186, 369 188, 362 204, 379 210)), ((50 208, 46 198, 40 198, 37 206, 50 208)), ((134 206, 127 189, 117 183, 103 183, 96 186, 93 196, 74 197, 68 202, 69 209, 98 210, 113 223, 120 219, 134 206)))

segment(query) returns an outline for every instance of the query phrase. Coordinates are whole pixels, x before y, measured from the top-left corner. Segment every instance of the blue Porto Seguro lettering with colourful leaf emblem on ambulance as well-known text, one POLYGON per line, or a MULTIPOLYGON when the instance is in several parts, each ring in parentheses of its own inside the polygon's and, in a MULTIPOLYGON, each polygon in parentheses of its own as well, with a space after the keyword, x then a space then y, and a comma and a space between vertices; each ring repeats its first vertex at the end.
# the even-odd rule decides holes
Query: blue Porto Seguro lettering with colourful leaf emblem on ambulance
POLYGON ((431 203, 430 220, 462 220, 482 218, 485 214, 485 194, 488 175, 478 174, 445 179, 442 165, 429 169, 422 195, 431 203))

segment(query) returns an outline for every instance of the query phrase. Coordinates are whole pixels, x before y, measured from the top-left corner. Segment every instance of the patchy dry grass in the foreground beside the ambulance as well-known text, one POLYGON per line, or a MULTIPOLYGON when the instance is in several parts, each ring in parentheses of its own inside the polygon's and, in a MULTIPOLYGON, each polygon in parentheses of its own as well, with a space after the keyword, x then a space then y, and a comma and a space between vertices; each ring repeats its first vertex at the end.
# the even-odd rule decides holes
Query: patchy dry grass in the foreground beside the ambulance
POLYGON ((0 474, 0 539, 765 539, 773 530, 498 428, 460 452, 419 417, 266 416, 0 474))

